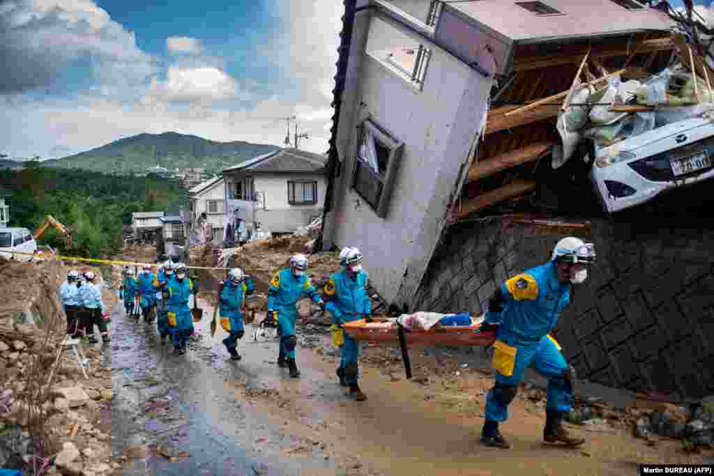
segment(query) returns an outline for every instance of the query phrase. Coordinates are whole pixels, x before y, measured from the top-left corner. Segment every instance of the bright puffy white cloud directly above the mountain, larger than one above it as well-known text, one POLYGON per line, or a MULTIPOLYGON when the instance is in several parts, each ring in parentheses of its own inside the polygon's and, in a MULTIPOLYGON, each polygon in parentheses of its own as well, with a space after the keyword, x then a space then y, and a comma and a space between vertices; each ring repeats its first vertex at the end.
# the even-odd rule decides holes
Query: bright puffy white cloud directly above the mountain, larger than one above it
POLYGON ((199 68, 169 67, 166 81, 154 78, 146 96, 161 101, 228 101, 248 98, 240 93, 235 79, 212 66, 199 68))

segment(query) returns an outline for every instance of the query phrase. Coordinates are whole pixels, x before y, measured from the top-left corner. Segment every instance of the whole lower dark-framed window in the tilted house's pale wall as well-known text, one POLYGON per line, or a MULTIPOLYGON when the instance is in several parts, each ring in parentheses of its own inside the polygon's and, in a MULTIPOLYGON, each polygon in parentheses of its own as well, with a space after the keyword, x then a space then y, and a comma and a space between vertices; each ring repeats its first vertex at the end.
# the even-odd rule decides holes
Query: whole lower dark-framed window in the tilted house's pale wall
POLYGON ((352 175, 352 188, 369 203, 377 216, 387 216, 391 191, 401 160, 403 143, 376 123, 362 123, 352 175))

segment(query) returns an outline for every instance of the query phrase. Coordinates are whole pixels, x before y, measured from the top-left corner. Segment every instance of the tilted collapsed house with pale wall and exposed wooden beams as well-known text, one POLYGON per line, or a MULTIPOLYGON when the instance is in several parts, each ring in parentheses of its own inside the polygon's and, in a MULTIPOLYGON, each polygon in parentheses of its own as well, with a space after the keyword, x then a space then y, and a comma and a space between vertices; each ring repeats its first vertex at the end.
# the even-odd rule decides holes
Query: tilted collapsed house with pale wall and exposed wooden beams
POLYGON ((668 17, 633 0, 346 4, 323 244, 358 245, 398 305, 413 300, 456 205, 465 218, 535 188, 507 176, 558 141, 559 101, 506 113, 567 91, 588 50, 609 71, 636 53, 642 74, 673 49, 668 17), (489 111, 494 98, 516 105, 489 111))

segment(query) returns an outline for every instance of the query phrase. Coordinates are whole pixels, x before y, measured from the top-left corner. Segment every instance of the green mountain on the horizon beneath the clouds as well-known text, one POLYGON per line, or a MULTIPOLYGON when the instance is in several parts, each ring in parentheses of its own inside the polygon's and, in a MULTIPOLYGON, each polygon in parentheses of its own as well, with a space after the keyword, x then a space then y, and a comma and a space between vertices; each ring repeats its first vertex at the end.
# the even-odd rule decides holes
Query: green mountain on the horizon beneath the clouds
POLYGON ((175 132, 144 133, 60 158, 53 165, 106 173, 146 173, 158 165, 170 172, 176 168, 205 168, 206 173, 213 174, 276 148, 243 141, 208 141, 175 132))

